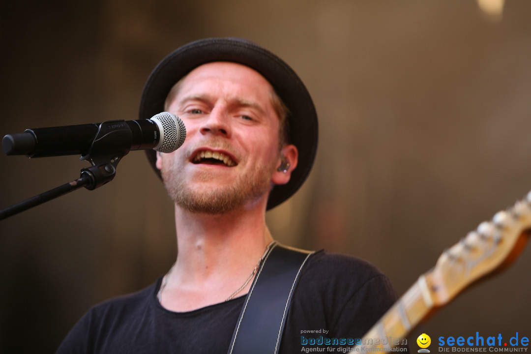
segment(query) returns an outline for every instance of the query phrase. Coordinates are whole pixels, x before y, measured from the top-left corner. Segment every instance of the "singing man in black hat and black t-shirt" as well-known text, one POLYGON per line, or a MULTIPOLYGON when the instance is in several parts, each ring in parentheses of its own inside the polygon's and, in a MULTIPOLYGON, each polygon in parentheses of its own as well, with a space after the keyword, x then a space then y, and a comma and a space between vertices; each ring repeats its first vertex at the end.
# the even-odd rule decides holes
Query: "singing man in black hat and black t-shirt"
MULTIPOLYGON (((195 41, 159 63, 145 85, 140 118, 163 110, 187 130, 176 151, 148 152, 175 202, 176 262, 149 288, 91 308, 58 353, 232 352, 248 294, 259 291, 253 283, 281 247, 265 212, 303 184, 318 135, 293 70, 246 40, 195 41)), ((350 256, 307 255, 297 277, 280 353, 348 344, 396 300, 382 273, 350 256)))

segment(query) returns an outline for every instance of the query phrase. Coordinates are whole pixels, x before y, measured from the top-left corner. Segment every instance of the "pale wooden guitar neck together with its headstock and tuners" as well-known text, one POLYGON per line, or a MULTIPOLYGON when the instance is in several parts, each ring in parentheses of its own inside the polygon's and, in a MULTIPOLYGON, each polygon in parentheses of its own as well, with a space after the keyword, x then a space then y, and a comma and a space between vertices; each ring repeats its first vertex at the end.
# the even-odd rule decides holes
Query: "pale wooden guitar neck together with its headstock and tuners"
POLYGON ((530 230, 531 192, 444 251, 435 267, 422 275, 365 334, 359 349, 385 350, 402 344, 402 339, 435 306, 447 304, 469 284, 512 263, 524 249, 530 230))

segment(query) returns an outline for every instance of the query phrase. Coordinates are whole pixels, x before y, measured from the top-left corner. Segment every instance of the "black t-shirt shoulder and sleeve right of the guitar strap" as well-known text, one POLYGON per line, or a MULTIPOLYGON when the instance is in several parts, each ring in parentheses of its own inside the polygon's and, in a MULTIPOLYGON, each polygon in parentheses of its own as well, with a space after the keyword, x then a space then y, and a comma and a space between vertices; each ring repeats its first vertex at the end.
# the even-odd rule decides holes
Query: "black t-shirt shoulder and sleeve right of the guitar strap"
POLYGON ((329 338, 361 338, 396 299, 389 279, 371 263, 317 252, 307 260, 293 295, 283 352, 301 351, 301 333, 314 330, 326 330, 329 338))

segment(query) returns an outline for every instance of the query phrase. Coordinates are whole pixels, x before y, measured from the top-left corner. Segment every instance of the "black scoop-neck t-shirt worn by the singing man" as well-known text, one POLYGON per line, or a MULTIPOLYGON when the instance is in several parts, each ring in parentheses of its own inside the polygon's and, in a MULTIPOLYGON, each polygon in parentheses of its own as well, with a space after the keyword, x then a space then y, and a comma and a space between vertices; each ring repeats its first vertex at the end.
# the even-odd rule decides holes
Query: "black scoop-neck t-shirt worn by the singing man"
MULTIPOLYGON (((157 299, 161 279, 139 292, 92 307, 57 354, 226 354, 245 296, 190 312, 172 312, 157 299)), ((279 352, 326 347, 319 344, 321 336, 362 338, 396 299, 387 277, 371 264, 346 255, 316 253, 307 261, 293 295, 279 352)), ((341 347, 330 346, 334 352, 341 347)))

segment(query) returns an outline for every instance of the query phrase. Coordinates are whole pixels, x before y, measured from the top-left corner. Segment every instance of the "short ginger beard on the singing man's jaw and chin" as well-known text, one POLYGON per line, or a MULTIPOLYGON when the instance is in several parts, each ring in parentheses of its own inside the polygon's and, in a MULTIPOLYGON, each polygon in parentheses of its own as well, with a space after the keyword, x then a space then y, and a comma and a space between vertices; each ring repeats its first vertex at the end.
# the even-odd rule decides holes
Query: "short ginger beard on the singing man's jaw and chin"
MULTIPOLYGON (((227 149, 227 146, 221 145, 223 144, 218 143, 210 146, 227 149)), ((211 188, 193 189, 190 183, 187 183, 183 169, 179 168, 174 159, 165 159, 161 175, 169 196, 184 210, 193 213, 222 214, 242 208, 245 204, 257 201, 268 193, 272 187, 271 176, 275 166, 275 160, 269 164, 256 163, 244 174, 239 174, 230 184, 211 188)), ((194 178, 208 182, 215 180, 216 174, 198 171, 194 174, 194 178)))

